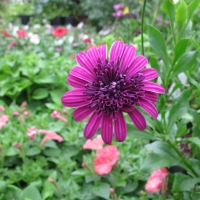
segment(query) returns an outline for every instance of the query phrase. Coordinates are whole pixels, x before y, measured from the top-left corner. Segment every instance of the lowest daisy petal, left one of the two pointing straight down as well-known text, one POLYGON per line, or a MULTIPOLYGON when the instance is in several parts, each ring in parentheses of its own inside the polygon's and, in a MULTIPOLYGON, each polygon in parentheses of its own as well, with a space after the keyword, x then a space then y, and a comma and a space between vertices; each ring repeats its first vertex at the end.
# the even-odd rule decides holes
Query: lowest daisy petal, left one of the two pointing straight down
POLYGON ((113 124, 110 115, 103 115, 101 137, 106 144, 111 144, 113 138, 113 124))

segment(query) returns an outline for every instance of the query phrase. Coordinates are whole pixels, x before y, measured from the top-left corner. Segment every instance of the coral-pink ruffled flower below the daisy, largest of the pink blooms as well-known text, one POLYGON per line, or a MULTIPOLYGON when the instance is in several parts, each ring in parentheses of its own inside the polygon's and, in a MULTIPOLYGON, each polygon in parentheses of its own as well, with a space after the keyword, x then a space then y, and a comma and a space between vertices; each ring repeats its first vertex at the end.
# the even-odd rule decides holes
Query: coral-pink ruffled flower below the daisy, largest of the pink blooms
POLYGON ((109 145, 100 149, 96 156, 93 160, 94 171, 99 175, 108 174, 119 160, 119 151, 116 146, 109 145))

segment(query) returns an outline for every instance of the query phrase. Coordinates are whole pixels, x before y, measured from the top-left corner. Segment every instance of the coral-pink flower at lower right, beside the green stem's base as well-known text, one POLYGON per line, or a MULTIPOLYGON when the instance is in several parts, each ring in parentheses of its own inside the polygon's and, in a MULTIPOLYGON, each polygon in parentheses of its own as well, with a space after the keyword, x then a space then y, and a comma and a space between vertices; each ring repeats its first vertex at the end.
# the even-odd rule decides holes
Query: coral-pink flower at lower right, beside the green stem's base
POLYGON ((150 193, 154 193, 157 190, 160 190, 167 177, 168 171, 166 168, 154 170, 151 173, 151 176, 148 178, 147 183, 145 184, 145 189, 150 193))

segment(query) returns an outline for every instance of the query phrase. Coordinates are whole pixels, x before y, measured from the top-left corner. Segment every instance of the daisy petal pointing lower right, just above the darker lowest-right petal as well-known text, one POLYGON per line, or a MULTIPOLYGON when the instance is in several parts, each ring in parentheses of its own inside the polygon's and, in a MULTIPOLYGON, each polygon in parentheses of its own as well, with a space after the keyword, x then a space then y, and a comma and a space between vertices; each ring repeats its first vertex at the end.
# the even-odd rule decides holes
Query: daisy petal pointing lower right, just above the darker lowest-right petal
POLYGON ((138 105, 140 107, 142 107, 153 118, 158 117, 158 111, 157 111, 156 107, 150 101, 147 101, 147 100, 144 100, 144 99, 139 99, 138 105))

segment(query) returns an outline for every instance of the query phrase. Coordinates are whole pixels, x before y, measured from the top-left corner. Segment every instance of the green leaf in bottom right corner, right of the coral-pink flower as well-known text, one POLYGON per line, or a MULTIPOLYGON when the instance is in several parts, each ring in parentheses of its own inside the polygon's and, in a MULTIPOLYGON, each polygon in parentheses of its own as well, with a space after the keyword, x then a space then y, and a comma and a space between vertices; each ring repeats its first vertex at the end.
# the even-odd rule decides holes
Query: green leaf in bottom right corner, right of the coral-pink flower
POLYGON ((174 192, 191 191, 200 182, 200 178, 191 178, 187 175, 176 173, 172 190, 174 192))

